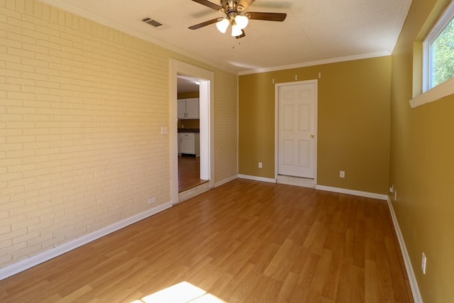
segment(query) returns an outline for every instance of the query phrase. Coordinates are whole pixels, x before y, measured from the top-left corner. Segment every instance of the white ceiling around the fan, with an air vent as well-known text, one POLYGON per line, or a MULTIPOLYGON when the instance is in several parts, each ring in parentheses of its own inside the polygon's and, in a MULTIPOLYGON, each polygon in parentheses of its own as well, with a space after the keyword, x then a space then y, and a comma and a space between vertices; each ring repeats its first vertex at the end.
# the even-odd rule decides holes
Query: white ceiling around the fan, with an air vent
MULTIPOLYGON (((218 32, 223 16, 192 0, 42 0, 239 75, 389 55, 411 0, 256 0, 246 11, 287 13, 283 22, 250 20, 246 37, 218 32), (153 18, 153 28, 141 20, 153 18)), ((220 1, 213 0, 215 4, 220 1)))

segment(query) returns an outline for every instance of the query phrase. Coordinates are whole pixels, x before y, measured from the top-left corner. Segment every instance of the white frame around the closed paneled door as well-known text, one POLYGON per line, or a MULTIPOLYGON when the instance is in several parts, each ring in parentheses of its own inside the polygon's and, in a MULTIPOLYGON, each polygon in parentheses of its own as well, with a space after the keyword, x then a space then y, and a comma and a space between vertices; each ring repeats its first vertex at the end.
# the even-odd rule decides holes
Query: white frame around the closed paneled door
POLYGON ((306 80, 306 81, 297 81, 297 82, 285 82, 275 84, 275 180, 277 182, 278 170, 279 170, 279 87, 286 87, 299 84, 314 84, 315 85, 315 110, 314 110, 314 119, 315 119, 315 138, 314 138, 314 184, 317 184, 317 122, 318 122, 318 104, 319 104, 319 89, 318 89, 318 80, 306 80))

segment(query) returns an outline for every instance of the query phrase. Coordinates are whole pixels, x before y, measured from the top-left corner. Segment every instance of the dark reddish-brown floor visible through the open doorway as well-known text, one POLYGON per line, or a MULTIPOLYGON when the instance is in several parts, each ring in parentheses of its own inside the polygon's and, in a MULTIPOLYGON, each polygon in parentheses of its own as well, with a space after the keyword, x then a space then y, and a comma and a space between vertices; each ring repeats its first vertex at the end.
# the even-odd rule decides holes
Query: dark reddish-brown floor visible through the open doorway
POLYGON ((200 180, 200 157, 178 156, 178 192, 208 182, 200 180))

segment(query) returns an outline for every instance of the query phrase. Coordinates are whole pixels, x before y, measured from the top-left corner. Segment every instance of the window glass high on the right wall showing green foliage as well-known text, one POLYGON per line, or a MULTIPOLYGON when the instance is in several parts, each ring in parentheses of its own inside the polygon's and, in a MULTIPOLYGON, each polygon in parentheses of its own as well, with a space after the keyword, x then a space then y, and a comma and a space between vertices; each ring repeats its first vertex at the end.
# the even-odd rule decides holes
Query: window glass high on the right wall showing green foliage
POLYGON ((423 43, 423 92, 454 77, 454 2, 423 43))

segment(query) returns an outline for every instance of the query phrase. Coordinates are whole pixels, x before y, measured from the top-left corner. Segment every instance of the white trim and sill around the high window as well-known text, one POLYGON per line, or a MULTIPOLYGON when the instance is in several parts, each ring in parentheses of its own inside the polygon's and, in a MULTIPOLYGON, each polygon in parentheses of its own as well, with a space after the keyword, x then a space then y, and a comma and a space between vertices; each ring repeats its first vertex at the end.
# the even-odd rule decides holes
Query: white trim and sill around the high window
POLYGON ((449 6, 443 11, 441 18, 436 21, 435 26, 429 31, 429 35, 423 42, 423 94, 419 94, 410 100, 411 108, 421 106, 426 103, 437 101, 443 97, 454 94, 454 78, 448 79, 447 81, 438 84, 432 89, 428 89, 430 75, 428 72, 429 60, 428 57, 431 55, 429 50, 430 43, 438 36, 439 33, 445 28, 450 19, 454 14, 454 1, 451 1, 449 6))

